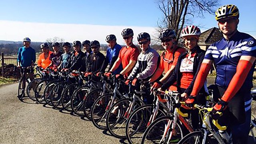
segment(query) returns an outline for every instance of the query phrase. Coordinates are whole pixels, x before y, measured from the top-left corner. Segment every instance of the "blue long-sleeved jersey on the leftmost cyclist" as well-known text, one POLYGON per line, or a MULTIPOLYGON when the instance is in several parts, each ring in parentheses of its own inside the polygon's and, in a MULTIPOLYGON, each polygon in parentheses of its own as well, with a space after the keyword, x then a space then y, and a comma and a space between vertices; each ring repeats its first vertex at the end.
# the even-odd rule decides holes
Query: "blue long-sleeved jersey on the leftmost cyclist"
POLYGON ((36 62, 36 51, 34 48, 26 48, 25 46, 19 48, 18 62, 20 62, 20 66, 28 67, 31 65, 32 61, 36 62))

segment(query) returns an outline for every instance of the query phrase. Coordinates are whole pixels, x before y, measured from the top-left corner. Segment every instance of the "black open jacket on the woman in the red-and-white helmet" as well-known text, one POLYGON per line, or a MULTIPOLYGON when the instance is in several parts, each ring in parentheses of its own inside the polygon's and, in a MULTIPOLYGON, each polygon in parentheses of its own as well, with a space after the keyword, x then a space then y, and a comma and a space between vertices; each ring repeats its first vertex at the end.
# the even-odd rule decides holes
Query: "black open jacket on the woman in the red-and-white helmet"
MULTIPOLYGON (((190 83, 190 85, 188 86, 188 88, 184 91, 186 94, 190 95, 194 86, 194 82, 196 80, 196 76, 200 70, 202 61, 204 60, 204 54, 205 51, 201 50, 199 46, 196 47, 196 55, 194 57, 194 64, 193 64, 193 81, 190 83)), ((174 82, 177 82, 177 88, 179 90, 179 86, 180 86, 180 80, 181 80, 181 76, 182 73, 180 72, 180 65, 181 65, 181 61, 183 58, 185 58, 187 55, 187 53, 183 53, 179 56, 178 58, 178 62, 177 65, 175 66, 175 69, 172 73, 172 76, 170 76, 170 78, 162 85, 162 89, 166 90, 168 89, 172 84, 174 84, 174 82)), ((200 92, 205 92, 204 87, 201 88, 200 92)))

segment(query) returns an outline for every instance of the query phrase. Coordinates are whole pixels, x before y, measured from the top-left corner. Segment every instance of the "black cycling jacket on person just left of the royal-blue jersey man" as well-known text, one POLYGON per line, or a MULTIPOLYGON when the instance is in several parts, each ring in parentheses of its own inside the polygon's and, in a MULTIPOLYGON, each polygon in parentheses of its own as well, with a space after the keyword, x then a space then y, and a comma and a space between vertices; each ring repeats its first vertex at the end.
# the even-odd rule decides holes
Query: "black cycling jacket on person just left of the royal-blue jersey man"
POLYGON ((88 65, 86 72, 100 72, 100 68, 105 60, 105 56, 98 52, 97 54, 91 54, 88 59, 88 65))

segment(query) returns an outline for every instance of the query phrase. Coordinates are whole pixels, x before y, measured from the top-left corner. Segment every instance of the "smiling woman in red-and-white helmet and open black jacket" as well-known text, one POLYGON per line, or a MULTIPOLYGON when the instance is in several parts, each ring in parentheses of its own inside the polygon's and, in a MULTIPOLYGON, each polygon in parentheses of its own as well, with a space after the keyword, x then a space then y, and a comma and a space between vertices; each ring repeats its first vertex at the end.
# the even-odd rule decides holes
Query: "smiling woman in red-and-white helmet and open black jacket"
MULTIPOLYGON (((198 74, 202 61, 204 60, 205 51, 198 46, 198 39, 201 34, 197 26, 187 26, 182 30, 181 37, 187 52, 179 56, 177 64, 170 78, 162 85, 162 90, 168 90, 176 82, 176 87, 181 96, 186 99, 192 92, 194 80, 198 74)), ((201 88, 200 93, 196 96, 200 104, 205 104, 206 88, 201 88)), ((181 109, 184 113, 191 113, 192 126, 196 130, 199 124, 199 111, 181 109)))

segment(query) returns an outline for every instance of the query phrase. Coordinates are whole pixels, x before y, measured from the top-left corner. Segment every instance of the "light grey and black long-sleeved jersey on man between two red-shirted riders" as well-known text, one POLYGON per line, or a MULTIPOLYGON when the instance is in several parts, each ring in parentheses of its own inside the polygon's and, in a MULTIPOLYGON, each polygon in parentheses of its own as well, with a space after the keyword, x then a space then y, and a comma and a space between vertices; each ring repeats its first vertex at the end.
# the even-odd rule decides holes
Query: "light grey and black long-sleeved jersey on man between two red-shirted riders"
POLYGON ((160 56, 156 50, 148 48, 145 52, 142 51, 138 56, 138 61, 128 76, 129 80, 135 77, 140 80, 149 80, 160 63, 160 56))

